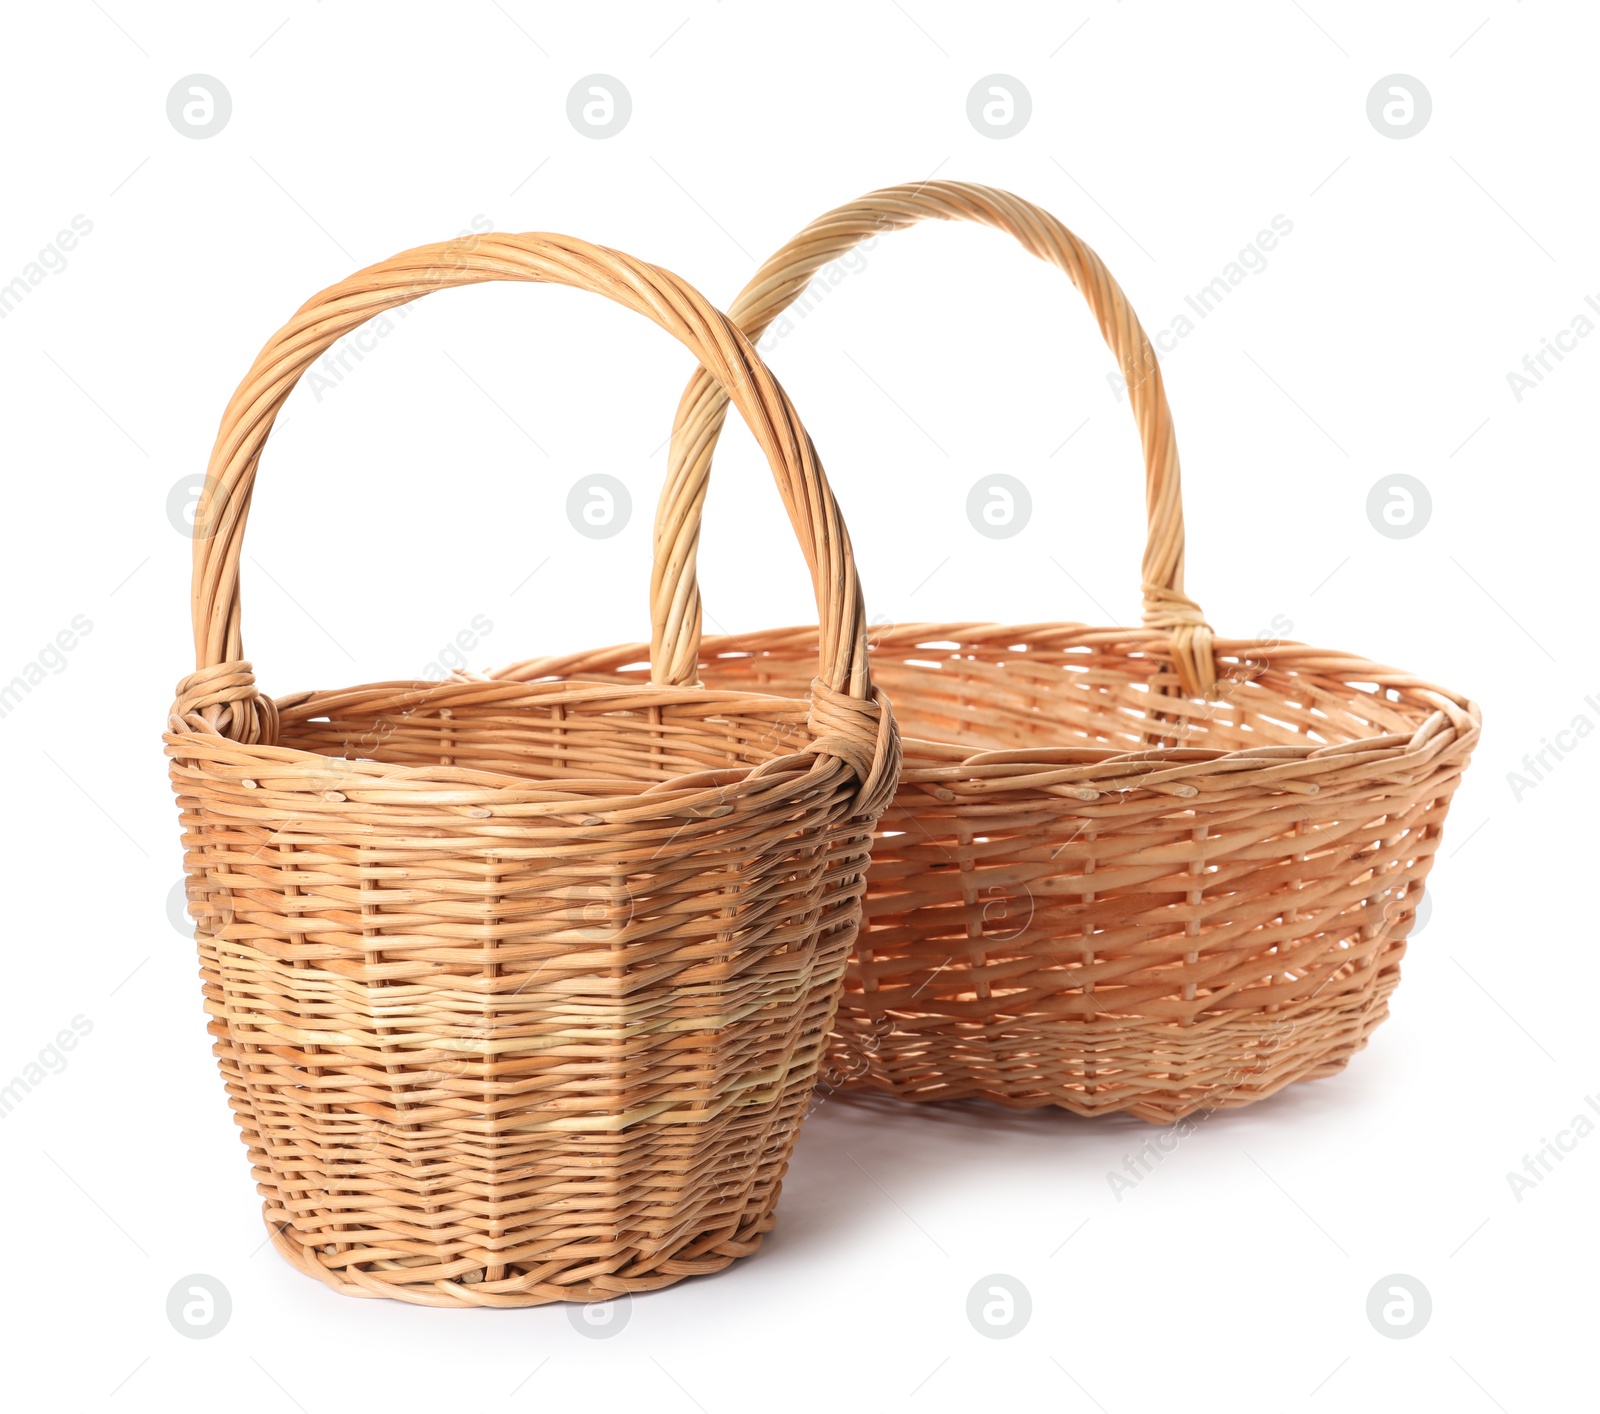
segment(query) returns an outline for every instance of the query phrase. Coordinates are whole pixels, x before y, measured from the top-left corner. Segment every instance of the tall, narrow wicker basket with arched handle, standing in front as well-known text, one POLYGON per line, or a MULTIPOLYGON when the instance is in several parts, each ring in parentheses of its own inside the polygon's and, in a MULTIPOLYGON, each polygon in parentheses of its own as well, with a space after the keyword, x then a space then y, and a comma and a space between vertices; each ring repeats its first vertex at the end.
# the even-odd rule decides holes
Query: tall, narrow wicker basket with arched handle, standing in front
POLYGON ((746 339, 666 270, 566 237, 384 261, 262 349, 194 553, 197 670, 165 741, 210 1030, 278 1251, 355 1296, 478 1307, 603 1300, 754 1251, 899 747, 832 493, 746 339), (238 561, 285 398, 373 315, 486 280, 605 294, 731 390, 811 565, 808 689, 256 691, 238 561))

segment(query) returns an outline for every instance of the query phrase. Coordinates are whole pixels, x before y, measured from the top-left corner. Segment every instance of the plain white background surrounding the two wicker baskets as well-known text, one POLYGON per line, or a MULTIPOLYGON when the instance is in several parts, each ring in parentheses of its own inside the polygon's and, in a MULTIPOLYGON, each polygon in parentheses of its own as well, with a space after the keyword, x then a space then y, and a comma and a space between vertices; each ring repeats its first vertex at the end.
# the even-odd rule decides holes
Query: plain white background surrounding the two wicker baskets
MULTIPOLYGON (((8 1403, 1592 1403, 1600 1136, 1520 1201, 1506 1174, 1600 1091, 1582 902, 1600 741, 1520 800, 1507 773, 1576 715, 1600 721, 1584 702, 1600 696, 1600 338, 1522 400, 1507 373, 1600 299, 1595 40, 1586 6, 1506 0, 8 8, 0 283, 74 216, 93 222, 0 320, 0 678, 74 616, 93 624, 0 720, 0 1080, 74 1016, 93 1025, 0 1126, 8 1403), (606 141, 566 118, 597 72, 634 106, 606 141), (997 72, 1032 94, 1008 139, 966 117, 997 72), (203 141, 166 117, 189 74, 232 96, 203 141), (1432 94, 1405 141, 1366 117, 1390 74, 1432 94), (1154 1132, 1138 1121, 830 1099, 763 1251, 635 1300, 610 1340, 563 1307, 434 1312, 301 1276, 261 1248, 194 947, 166 915, 179 849, 158 734, 192 665, 170 489, 203 470, 262 341, 358 266, 483 218, 619 246, 722 302, 813 216, 933 173, 1053 210, 1152 333, 1274 216, 1293 222, 1165 360, 1189 589, 1224 635, 1283 616, 1286 637, 1483 705, 1392 1019, 1341 1076, 1205 1121, 1122 1201, 1106 1174, 1154 1132), (1389 539, 1365 505, 1400 472, 1434 509, 1389 539), (214 1339, 168 1324, 189 1273, 232 1294, 214 1339), (968 1324, 989 1273, 1032 1296, 1011 1339, 968 1324), (1432 1294, 1413 1339, 1368 1323, 1389 1273, 1432 1294)), ((1138 443, 1058 272, 976 227, 888 237, 770 360, 838 488, 870 611, 1134 619, 1138 443), (965 518, 998 470, 1034 497, 1010 541, 965 518)), ((475 665, 643 637, 690 371, 602 299, 493 286, 419 306, 320 400, 298 390, 245 565, 262 686, 421 673, 477 614, 493 630, 475 665), (634 497, 608 541, 563 509, 595 472, 634 497)), ((810 619, 742 429, 710 501, 714 625, 810 619)))

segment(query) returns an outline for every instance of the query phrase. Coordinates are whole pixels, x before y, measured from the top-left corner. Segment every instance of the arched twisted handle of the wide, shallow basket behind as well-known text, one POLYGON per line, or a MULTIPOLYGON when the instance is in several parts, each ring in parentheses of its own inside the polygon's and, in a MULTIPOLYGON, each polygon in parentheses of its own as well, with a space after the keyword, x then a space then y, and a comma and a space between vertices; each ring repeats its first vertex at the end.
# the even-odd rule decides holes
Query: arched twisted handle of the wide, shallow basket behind
MULTIPOLYGON (((928 181, 885 187, 813 221, 757 270, 728 314, 750 339, 758 339, 829 261, 869 237, 930 218, 976 221, 1014 235, 1030 254, 1062 269, 1088 301, 1128 384, 1128 401, 1144 446, 1149 520, 1142 566, 1144 622, 1168 635, 1182 693, 1210 696, 1216 683, 1213 635, 1200 606, 1184 593, 1182 488, 1162 369, 1144 328, 1101 258, 1054 216, 1010 192, 970 182, 928 181)), ((699 507, 726 417, 726 401, 706 369, 698 369, 683 392, 672 427, 651 581, 656 641, 672 648, 669 681, 694 681, 701 632, 694 577, 699 507), (685 517, 685 507, 691 510, 690 517, 685 517)))

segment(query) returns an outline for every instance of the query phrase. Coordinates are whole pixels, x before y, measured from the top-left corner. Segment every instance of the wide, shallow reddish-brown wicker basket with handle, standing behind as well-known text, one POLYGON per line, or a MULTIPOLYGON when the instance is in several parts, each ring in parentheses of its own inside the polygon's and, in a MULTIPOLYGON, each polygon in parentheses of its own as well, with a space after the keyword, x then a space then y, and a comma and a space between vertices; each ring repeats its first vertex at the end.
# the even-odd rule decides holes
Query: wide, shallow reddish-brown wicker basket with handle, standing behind
MULTIPOLYGON (((829 261, 925 218, 1010 232, 1088 301, 1144 446, 1146 627, 874 632, 906 769, 830 1080, 1165 1123, 1330 1075, 1387 1014, 1478 709, 1352 654, 1213 637, 1184 593, 1155 354, 1099 258, 1029 202, 960 182, 874 192, 806 227, 730 314, 758 338, 829 261)), ((794 693, 816 629, 694 648, 693 512, 725 408, 702 371, 678 409, 656 603, 685 656, 666 680, 794 693)), ((640 653, 498 677, 622 681, 640 653)))

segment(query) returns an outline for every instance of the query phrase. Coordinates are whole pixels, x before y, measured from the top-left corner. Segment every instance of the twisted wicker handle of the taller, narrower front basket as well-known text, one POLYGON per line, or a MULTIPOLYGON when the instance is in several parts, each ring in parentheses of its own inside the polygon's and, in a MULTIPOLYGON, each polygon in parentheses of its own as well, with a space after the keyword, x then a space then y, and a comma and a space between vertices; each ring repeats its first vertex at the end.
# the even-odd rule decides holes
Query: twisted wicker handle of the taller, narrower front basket
MULTIPOLYGON (((256 691, 240 640, 238 560, 256 465, 301 374, 350 330, 435 290, 488 280, 571 285, 605 294, 682 341, 725 408, 738 405, 778 480, 816 590, 821 648, 811 691, 813 750, 845 760, 862 782, 862 813, 893 790, 893 721, 872 688, 861 582, 834 493, 787 393, 744 334, 677 275, 621 251, 565 235, 478 235, 419 246, 358 270, 309 299, 274 334, 222 414, 195 509, 195 672, 178 685, 173 713, 242 742, 272 742, 277 710, 256 691)), ((685 534, 662 507, 658 536, 685 534)), ((698 534, 698 525, 694 528, 698 534)), ((659 643, 658 635, 658 643, 659 643)), ((653 648, 653 657, 656 649, 653 648)), ((666 681, 653 673, 654 681, 666 681)))

